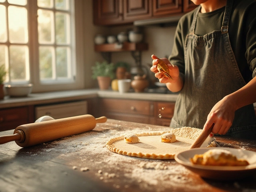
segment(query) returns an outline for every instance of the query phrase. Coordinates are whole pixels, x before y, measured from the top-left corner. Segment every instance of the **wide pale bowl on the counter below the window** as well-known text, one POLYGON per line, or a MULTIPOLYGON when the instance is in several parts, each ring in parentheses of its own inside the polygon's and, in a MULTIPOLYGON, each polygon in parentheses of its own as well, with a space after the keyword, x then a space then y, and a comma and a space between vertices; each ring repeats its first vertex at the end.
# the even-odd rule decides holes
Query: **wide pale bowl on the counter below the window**
POLYGON ((31 93, 33 84, 4 85, 4 87, 10 97, 26 97, 31 93))

